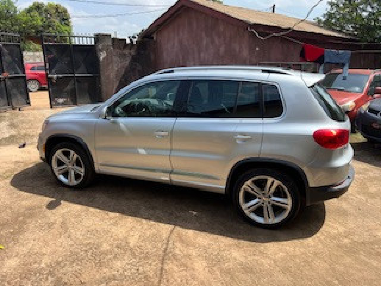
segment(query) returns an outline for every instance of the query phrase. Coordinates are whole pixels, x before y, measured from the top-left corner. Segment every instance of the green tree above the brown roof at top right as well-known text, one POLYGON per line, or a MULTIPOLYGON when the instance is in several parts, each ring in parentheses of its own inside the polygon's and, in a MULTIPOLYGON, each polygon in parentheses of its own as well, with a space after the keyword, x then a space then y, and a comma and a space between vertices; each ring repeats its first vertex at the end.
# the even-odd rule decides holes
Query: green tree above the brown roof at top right
POLYGON ((354 35, 364 42, 381 42, 380 0, 330 0, 317 23, 325 28, 354 35))

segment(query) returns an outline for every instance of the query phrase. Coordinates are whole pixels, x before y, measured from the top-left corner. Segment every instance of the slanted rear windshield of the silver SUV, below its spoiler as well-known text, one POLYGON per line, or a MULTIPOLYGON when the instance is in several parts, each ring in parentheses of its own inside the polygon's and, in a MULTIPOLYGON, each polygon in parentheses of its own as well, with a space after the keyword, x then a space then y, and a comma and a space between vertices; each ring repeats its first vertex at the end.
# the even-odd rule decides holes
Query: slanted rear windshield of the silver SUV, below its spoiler
POLYGON ((312 94, 315 96, 316 100, 324 109, 325 113, 334 121, 345 122, 345 113, 341 110, 335 100, 329 95, 327 90, 320 84, 315 84, 310 87, 312 94))

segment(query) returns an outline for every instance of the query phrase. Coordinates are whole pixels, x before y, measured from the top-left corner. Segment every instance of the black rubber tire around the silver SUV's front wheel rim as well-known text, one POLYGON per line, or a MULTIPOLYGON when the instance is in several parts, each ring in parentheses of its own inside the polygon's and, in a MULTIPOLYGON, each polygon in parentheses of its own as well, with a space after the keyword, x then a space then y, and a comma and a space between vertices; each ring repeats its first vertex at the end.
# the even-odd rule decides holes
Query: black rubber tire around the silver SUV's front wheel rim
POLYGON ((91 182, 93 182, 93 180, 94 180, 95 170, 94 170, 92 160, 89 157, 89 155, 86 153, 86 151, 81 146, 79 146, 77 144, 74 144, 71 142, 62 142, 62 143, 59 143, 58 145, 54 146, 53 149, 51 150, 50 154, 49 154, 49 161, 48 162, 49 162, 50 169, 51 169, 51 172, 53 173, 54 178, 56 178, 56 180, 62 186, 65 186, 67 188, 82 189, 82 188, 85 188, 86 186, 90 185, 91 182), (56 176, 56 174, 53 171, 53 156, 60 149, 69 149, 69 150, 74 151, 75 153, 77 153, 78 157, 80 157, 80 159, 83 162, 84 175, 83 175, 82 180, 76 185, 68 185, 68 184, 62 182, 56 176))

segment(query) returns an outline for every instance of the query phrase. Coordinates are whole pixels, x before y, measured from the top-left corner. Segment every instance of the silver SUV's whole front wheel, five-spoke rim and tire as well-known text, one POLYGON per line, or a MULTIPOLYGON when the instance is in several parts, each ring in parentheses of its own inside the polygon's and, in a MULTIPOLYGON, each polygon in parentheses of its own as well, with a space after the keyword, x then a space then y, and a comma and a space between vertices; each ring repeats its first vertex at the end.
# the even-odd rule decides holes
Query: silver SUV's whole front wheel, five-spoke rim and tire
POLYGON ((50 167, 58 182, 70 188, 84 188, 95 175, 89 156, 83 148, 71 142, 63 142, 53 148, 50 167))

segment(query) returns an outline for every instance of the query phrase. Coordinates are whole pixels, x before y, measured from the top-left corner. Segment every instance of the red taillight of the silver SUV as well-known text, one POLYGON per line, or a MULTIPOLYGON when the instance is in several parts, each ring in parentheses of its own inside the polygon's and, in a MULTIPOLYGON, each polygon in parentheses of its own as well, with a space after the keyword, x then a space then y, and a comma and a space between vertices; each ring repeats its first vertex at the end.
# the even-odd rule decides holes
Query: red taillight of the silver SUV
POLYGON ((320 146, 335 150, 348 144, 349 130, 347 129, 318 129, 314 133, 314 139, 320 146))

